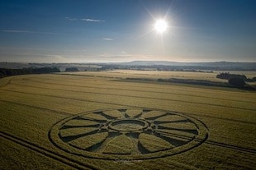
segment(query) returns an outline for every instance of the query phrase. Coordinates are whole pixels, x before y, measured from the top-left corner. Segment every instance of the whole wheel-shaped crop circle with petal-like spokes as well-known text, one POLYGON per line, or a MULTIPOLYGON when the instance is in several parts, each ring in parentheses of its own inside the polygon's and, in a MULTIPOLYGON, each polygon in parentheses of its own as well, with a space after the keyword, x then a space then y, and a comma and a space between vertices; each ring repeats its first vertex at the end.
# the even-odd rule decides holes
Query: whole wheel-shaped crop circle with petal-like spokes
POLYGON ((57 122, 50 140, 70 154, 95 159, 154 159, 183 153, 207 139, 206 126, 183 113, 120 108, 57 122))

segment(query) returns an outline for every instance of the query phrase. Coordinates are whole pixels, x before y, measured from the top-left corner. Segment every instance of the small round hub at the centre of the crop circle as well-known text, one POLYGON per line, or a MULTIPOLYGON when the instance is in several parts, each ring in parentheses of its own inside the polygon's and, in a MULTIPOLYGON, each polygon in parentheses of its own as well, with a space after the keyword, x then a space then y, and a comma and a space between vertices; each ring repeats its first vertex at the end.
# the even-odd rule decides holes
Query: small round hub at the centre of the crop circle
POLYGON ((147 122, 137 119, 121 119, 111 122, 109 127, 116 131, 140 131, 148 126, 147 122))

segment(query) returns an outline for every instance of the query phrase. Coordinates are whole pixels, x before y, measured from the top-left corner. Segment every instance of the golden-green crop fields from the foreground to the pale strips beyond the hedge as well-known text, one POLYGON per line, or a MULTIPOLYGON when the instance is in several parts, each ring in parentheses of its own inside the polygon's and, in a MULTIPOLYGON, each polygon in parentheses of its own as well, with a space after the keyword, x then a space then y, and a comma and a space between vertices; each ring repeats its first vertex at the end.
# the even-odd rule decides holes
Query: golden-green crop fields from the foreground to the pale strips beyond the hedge
POLYGON ((0 79, 0 168, 255 169, 256 93, 126 80, 166 74, 0 79))

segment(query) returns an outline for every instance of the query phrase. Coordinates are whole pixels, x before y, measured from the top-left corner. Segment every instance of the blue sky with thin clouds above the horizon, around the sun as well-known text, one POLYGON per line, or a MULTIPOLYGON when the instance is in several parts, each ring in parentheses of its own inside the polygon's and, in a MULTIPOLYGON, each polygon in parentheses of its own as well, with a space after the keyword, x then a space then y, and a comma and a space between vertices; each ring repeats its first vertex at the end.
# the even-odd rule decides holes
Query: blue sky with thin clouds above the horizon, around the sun
POLYGON ((256 1, 0 1, 0 62, 135 60, 256 62, 256 1))

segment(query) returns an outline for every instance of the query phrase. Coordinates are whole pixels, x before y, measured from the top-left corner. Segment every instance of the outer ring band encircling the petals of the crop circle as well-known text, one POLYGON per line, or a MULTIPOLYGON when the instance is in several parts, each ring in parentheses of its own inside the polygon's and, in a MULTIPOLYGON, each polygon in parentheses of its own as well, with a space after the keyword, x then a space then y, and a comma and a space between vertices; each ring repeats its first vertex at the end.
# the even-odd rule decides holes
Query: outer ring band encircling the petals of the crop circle
POLYGON ((59 129, 64 125, 64 123, 68 122, 69 120, 78 117, 80 115, 84 114, 89 114, 89 113, 97 113, 97 112, 104 112, 104 111, 111 111, 111 110, 119 110, 119 109, 134 109, 134 108, 107 108, 107 109, 102 109, 102 110, 94 110, 94 111, 89 111, 85 113, 79 113, 76 115, 73 115, 71 117, 66 117, 59 122, 56 122, 50 129, 48 137, 49 140, 55 145, 57 148, 64 150, 65 152, 69 154, 75 154, 78 156, 82 156, 85 158, 91 158, 91 159, 106 159, 106 160, 116 160, 116 159, 129 159, 129 160, 143 160, 143 159, 157 159, 157 158, 164 158, 168 156, 172 156, 175 154, 181 154, 183 152, 186 152, 187 150, 194 149, 204 143, 207 138, 208 138, 208 128, 206 125, 198 120, 195 117, 190 117, 187 116, 185 113, 178 113, 178 112, 173 112, 173 111, 168 111, 168 110, 163 110, 163 109, 155 109, 155 108, 136 108, 136 109, 144 109, 144 110, 155 110, 155 111, 162 111, 166 113, 173 113, 181 117, 187 118, 190 122, 192 122, 195 126, 197 126, 198 130, 198 135, 195 136, 194 139, 192 139, 190 142, 188 142, 185 145, 178 146, 173 149, 167 149, 164 151, 159 151, 155 153, 150 153, 150 154, 100 154, 100 153, 94 153, 94 152, 89 152, 85 150, 81 150, 78 148, 75 148, 69 144, 64 143, 60 138, 59 138, 59 129))

